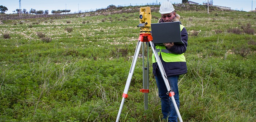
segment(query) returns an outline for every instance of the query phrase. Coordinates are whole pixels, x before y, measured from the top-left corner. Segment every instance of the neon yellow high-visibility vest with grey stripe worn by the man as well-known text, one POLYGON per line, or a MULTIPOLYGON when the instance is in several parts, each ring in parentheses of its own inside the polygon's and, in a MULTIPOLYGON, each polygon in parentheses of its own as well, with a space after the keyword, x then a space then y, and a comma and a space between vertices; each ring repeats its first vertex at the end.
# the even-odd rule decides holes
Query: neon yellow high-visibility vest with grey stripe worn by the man
MULTIPOLYGON (((180 25, 180 27, 181 27, 181 31, 182 31, 184 26, 180 25)), ((154 40, 154 37, 153 37, 153 40, 154 40)), ((173 54, 169 50, 167 50, 165 46, 157 46, 156 45, 156 51, 158 52, 158 56, 160 56, 160 53, 161 53, 163 61, 165 61, 165 62, 186 62, 184 53, 173 54)), ((152 54, 152 62, 153 63, 156 62, 154 53, 152 54)))

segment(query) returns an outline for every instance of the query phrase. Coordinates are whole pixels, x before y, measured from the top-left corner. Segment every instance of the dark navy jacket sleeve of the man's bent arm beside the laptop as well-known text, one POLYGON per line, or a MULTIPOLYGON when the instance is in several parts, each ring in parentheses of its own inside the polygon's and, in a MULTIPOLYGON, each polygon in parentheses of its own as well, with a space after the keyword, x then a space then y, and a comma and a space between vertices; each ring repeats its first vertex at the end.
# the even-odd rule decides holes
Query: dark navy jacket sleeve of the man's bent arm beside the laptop
POLYGON ((174 44, 171 48, 166 49, 175 54, 182 54, 186 52, 188 34, 185 27, 181 31, 181 40, 183 41, 184 44, 174 44))

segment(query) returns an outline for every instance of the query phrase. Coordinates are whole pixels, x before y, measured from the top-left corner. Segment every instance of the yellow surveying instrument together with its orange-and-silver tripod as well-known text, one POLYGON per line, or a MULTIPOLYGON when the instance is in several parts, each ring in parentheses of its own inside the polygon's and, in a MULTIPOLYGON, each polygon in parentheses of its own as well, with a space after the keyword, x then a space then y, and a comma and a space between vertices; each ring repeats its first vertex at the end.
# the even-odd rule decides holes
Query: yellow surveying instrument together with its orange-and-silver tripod
POLYGON ((129 86, 130 86, 130 83, 131 83, 131 80, 132 80, 132 75, 133 75, 133 72, 134 72, 134 68, 135 68, 135 64, 136 64, 136 61, 137 61, 137 58, 139 56, 139 51, 140 51, 140 47, 141 47, 141 44, 142 42, 145 42, 146 43, 146 46, 147 46, 147 66, 145 67, 145 64, 144 64, 144 43, 143 43, 143 49, 142 49, 142 55, 143 55, 143 89, 140 89, 140 92, 144 93, 144 109, 147 110, 148 109, 148 93, 149 93, 149 89, 148 89, 148 86, 149 86, 149 76, 148 76, 148 48, 149 48, 149 44, 152 48, 152 51, 155 55, 155 58, 156 58, 156 62, 159 66, 159 70, 162 74, 162 77, 163 77, 163 80, 164 80, 164 84, 166 85, 166 88, 167 88, 167 95, 169 95, 172 99, 172 103, 174 104, 174 107, 175 107, 175 110, 176 110, 176 113, 178 114, 178 118, 179 118, 179 121, 180 122, 183 122, 182 121, 182 118, 181 118, 181 114, 179 113, 179 109, 178 109, 178 106, 175 102, 175 99, 174 99, 174 92, 171 90, 170 88, 170 85, 169 85, 169 82, 168 82, 168 79, 167 79, 167 76, 166 76, 166 73, 164 72, 164 68, 163 68, 163 65, 162 65, 162 62, 158 56, 158 53, 156 51, 156 48, 154 46, 154 44, 152 43, 152 36, 151 36, 151 10, 150 10, 150 7, 141 7, 140 8, 140 24, 137 26, 137 27, 140 27, 140 36, 139 36, 139 39, 138 39, 138 43, 137 43, 137 47, 136 47, 136 50, 135 50, 135 54, 133 56, 133 60, 132 60, 132 65, 131 65, 131 68, 130 68, 130 71, 129 71, 129 75, 128 75, 128 78, 127 78, 127 81, 126 81, 126 84, 125 84, 125 88, 124 88, 124 92, 123 92, 123 95, 122 95, 122 101, 121 101, 121 105, 120 105, 120 108, 119 108, 119 111, 118 111, 118 115, 117 115, 117 118, 116 118, 116 122, 119 122, 119 118, 120 118, 120 115, 121 115, 121 112, 122 112, 122 109, 123 109, 123 105, 124 105, 124 101, 125 101, 125 98, 128 97, 128 89, 129 89, 129 86), (148 44, 149 43, 149 44, 148 44))

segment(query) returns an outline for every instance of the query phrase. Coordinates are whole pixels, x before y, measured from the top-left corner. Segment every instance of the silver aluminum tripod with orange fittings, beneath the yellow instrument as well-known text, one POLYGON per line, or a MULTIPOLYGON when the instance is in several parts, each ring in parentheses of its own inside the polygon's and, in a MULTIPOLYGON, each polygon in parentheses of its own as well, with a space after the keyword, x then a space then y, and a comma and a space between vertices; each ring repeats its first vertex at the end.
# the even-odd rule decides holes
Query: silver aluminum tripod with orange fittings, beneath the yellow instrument
MULTIPOLYGON (((140 36, 139 36, 139 39, 138 39, 138 43, 137 43, 137 47, 136 47, 136 50, 135 50, 135 54, 134 54, 134 57, 133 57, 132 65, 131 65, 131 68, 130 68, 130 71, 129 71, 129 75, 128 75, 128 78, 127 78, 127 81, 126 81, 126 84, 125 84, 125 88, 124 88, 124 92, 123 92, 123 96, 122 96, 123 98, 122 98, 121 105, 120 105, 120 108, 119 108, 119 112, 118 112, 118 115, 117 115, 117 118, 116 118, 116 122, 119 122, 119 118, 120 118, 120 115, 121 115, 121 111, 123 109, 125 98, 128 97, 128 95, 127 95, 128 89, 129 89, 129 86, 130 86, 130 83, 131 83, 132 75, 133 75, 133 72, 134 72, 134 68, 135 68, 135 64, 136 64, 137 58, 139 56, 139 50, 141 48, 141 43, 142 42, 146 42, 147 49, 148 49, 149 44, 150 44, 150 46, 152 48, 152 51, 153 51, 153 53, 155 55, 156 62, 158 64, 158 66, 159 66, 159 70, 160 70, 160 72, 162 74, 164 83, 166 85, 167 91, 168 91, 166 94, 168 94, 171 97, 172 103, 174 104, 174 107, 175 107, 175 110, 176 110, 176 113, 178 114, 178 118, 179 118, 179 120, 181 122, 183 122, 182 118, 181 118, 181 114, 179 113, 178 106, 177 106, 177 104, 175 102, 175 99, 174 99, 174 94, 175 93, 170 88, 170 85, 169 85, 166 73, 164 72, 164 68, 163 68, 162 62, 161 62, 161 60, 160 60, 160 58, 158 56, 158 53, 156 51, 156 48, 155 48, 154 44, 152 43, 152 40, 153 39, 152 39, 152 36, 151 36, 151 33, 150 33, 149 30, 140 33, 140 36)), ((143 43, 143 48, 144 48, 144 43, 143 43)), ((147 58, 148 58, 148 55, 147 55, 147 58)), ((143 67, 144 67, 144 49, 143 49, 143 67)), ((146 68, 143 69, 143 89, 141 89, 141 92, 145 93, 144 105, 145 105, 145 109, 147 109, 147 98, 146 97, 148 95, 147 94, 148 93, 148 82, 144 83, 144 76, 145 76, 144 73, 147 74, 147 77, 145 77, 145 78, 148 78, 148 68, 147 69, 146 68), (144 86, 146 86, 147 89, 144 89, 144 86)))

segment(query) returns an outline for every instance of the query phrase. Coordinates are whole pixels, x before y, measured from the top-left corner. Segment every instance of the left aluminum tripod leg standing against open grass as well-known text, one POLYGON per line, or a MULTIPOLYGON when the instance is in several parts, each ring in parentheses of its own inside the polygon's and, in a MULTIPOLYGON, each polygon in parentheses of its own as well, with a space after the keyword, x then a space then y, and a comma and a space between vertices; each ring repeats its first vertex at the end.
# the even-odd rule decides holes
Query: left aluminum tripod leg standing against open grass
POLYGON ((141 41, 138 41, 138 44, 137 44, 137 47, 136 47, 136 50, 135 50, 135 54, 133 56, 132 65, 131 65, 131 68, 130 68, 130 71, 129 71, 129 75, 128 75, 128 78, 127 78, 127 81, 126 81, 126 84, 125 84, 125 88, 124 88, 124 92, 123 92, 123 98, 122 98, 122 102, 121 102, 121 105, 120 105, 120 108, 119 108, 119 111, 118 111, 118 114, 117 114, 116 122, 119 122, 119 118, 120 118, 120 115, 121 115, 121 112, 122 112, 122 109, 123 109, 125 98, 128 97, 127 93, 128 93, 128 89, 129 89, 131 80, 132 80, 132 75, 133 75, 133 72, 134 72, 135 64, 136 64, 137 58, 139 56, 140 47, 141 47, 141 41))

